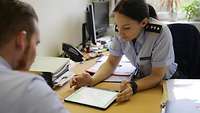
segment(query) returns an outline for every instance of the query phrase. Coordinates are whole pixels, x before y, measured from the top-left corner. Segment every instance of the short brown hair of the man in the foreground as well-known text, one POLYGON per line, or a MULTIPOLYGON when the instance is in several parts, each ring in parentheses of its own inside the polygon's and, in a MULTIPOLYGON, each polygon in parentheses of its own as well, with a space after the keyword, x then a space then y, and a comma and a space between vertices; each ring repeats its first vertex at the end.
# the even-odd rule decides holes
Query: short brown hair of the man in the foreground
POLYGON ((0 0, 0 46, 6 44, 16 33, 25 30, 27 38, 35 32, 34 9, 19 0, 0 0))

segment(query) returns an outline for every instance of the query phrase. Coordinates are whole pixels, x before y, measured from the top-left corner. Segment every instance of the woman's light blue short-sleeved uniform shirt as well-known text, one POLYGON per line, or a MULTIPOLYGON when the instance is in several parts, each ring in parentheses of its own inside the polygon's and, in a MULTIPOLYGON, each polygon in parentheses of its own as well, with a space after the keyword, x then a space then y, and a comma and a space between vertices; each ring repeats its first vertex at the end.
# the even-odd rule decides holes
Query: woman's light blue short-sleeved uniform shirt
POLYGON ((109 51, 114 56, 125 55, 134 66, 140 69, 143 77, 151 74, 152 67, 166 66, 165 79, 169 79, 177 68, 177 64, 174 62, 171 32, 158 20, 150 18, 149 23, 162 25, 162 31, 155 33, 143 30, 135 44, 116 36, 112 39, 109 51))

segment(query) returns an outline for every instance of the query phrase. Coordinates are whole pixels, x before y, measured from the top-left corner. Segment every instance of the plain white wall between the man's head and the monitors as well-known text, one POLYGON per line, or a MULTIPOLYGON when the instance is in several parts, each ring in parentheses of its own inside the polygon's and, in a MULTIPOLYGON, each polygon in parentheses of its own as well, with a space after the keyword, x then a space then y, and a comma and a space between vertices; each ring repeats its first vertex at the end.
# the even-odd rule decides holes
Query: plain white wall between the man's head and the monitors
POLYGON ((81 25, 85 21, 88 0, 22 0, 30 3, 39 16, 38 55, 57 56, 62 42, 74 46, 81 42, 81 25))

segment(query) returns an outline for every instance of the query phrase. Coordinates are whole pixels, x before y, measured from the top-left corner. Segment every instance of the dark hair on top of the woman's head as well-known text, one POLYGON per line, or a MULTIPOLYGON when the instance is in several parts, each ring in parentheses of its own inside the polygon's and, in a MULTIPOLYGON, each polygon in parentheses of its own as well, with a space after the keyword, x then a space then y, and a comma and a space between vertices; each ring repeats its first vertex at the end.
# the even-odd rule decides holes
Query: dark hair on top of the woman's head
POLYGON ((149 9, 145 0, 121 0, 114 12, 121 13, 133 20, 141 22, 144 18, 149 18, 149 9))

